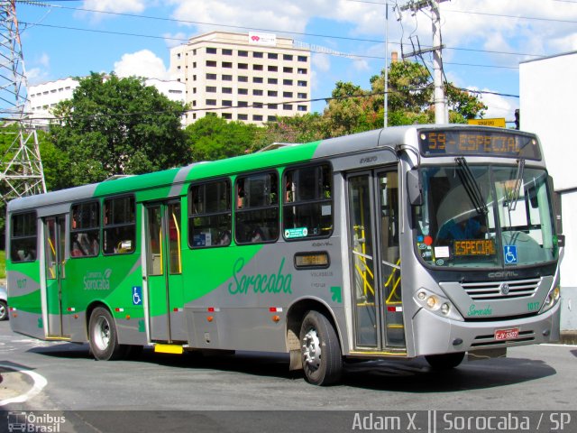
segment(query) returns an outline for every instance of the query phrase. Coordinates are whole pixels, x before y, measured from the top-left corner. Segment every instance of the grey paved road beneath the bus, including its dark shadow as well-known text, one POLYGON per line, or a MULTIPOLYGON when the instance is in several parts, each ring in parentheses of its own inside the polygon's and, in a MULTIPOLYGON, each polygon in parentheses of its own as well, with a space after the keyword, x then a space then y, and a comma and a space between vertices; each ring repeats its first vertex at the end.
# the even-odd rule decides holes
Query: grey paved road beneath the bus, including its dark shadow
MULTIPOLYGON (((27 401, 11 402, 0 410, 564 412, 577 410, 576 357, 575 346, 540 345, 511 349, 506 359, 465 361, 443 373, 431 371, 421 359, 350 364, 342 384, 322 388, 308 384, 299 373, 290 373, 285 355, 239 353, 198 358, 145 350, 134 360, 96 362, 87 345, 41 342, 15 335, 7 322, 0 322, 0 364, 4 365, 0 367, 4 378, 0 404, 33 387, 30 374, 14 369, 37 373, 46 380, 41 389, 32 390, 27 401)), ((256 413, 258 418, 261 412, 256 413)), ((205 416, 202 412, 196 415, 205 416)), ((251 419, 247 417, 243 420, 251 419)), ((289 422, 289 415, 286 417, 289 422)), ((140 415, 136 418, 147 419, 140 415)), ((172 421, 174 418, 170 417, 172 421)), ((577 426, 577 414, 574 418, 577 426)), ((214 427, 212 418, 202 419, 207 430, 214 427)), ((274 419, 279 417, 275 415, 274 419)), ((151 427, 151 420, 147 422, 151 427)), ((315 431, 311 427, 295 429, 315 431)))

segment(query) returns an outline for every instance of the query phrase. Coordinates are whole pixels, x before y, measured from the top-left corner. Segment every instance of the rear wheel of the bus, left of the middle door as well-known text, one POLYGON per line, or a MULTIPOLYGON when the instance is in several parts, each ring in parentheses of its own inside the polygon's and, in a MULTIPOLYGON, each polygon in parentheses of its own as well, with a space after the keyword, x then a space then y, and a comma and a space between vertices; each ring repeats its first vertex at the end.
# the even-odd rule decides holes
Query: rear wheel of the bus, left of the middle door
POLYGON ((126 347, 118 344, 114 318, 104 307, 96 307, 88 325, 90 350, 97 361, 112 361, 126 354, 126 347))

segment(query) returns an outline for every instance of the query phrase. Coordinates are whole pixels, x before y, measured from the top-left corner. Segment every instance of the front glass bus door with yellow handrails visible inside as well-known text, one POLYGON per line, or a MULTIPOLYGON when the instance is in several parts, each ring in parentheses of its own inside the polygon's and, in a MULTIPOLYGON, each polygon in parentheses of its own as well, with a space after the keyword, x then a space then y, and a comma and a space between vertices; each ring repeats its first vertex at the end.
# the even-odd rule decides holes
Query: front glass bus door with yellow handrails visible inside
POLYGON ((397 167, 352 173, 347 182, 355 347, 404 349, 397 167))

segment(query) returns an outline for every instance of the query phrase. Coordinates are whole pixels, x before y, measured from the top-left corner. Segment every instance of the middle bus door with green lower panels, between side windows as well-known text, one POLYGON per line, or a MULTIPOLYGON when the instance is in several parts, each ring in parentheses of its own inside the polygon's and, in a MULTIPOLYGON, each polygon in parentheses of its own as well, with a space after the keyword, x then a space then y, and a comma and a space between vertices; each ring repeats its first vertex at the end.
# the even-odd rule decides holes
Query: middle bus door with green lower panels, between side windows
POLYGON ((180 200, 149 204, 145 208, 151 340, 186 341, 180 200))

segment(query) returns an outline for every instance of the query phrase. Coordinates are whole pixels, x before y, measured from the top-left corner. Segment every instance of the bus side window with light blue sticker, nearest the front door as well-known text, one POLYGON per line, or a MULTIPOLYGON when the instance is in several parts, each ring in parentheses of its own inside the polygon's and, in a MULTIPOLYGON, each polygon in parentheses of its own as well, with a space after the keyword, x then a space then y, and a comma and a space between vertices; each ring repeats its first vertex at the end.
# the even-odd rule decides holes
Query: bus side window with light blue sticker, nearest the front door
POLYGON ((291 241, 333 232, 333 181, 327 164, 286 170, 283 181, 283 233, 291 241))

